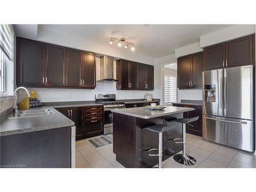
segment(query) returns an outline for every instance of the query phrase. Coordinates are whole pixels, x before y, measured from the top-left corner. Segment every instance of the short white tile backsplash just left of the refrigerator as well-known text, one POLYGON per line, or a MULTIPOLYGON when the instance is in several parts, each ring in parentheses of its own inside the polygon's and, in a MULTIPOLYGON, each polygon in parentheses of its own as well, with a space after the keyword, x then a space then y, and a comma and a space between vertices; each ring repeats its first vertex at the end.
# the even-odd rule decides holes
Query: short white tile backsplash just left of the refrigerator
POLYGON ((202 89, 185 89, 178 91, 179 102, 181 99, 186 100, 202 100, 202 89))

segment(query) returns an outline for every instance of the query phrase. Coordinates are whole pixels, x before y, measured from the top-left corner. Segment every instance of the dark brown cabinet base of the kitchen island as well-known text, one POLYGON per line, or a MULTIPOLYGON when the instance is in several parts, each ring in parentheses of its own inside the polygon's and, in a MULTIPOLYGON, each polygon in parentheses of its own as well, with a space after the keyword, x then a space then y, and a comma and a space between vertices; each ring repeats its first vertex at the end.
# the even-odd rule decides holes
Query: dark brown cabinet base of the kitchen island
MULTIPOLYGON (((158 148, 158 134, 143 128, 154 124, 167 124, 169 120, 182 117, 183 113, 178 113, 169 115, 166 119, 141 119, 113 113, 113 152, 116 160, 124 167, 154 167, 158 164, 158 157, 149 156, 147 151, 158 148)), ((181 124, 163 134, 163 161, 182 150, 181 144, 173 142, 174 138, 182 138, 181 124)))

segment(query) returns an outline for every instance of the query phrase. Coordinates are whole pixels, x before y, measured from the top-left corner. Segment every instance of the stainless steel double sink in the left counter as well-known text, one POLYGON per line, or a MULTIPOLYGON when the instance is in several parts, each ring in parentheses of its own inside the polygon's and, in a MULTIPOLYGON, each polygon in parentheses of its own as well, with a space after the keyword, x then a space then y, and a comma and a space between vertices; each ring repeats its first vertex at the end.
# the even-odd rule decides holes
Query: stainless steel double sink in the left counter
POLYGON ((12 114, 8 117, 8 119, 14 118, 23 118, 23 117, 36 117, 42 115, 54 115, 55 113, 50 109, 44 110, 27 110, 27 111, 18 111, 17 114, 12 114))

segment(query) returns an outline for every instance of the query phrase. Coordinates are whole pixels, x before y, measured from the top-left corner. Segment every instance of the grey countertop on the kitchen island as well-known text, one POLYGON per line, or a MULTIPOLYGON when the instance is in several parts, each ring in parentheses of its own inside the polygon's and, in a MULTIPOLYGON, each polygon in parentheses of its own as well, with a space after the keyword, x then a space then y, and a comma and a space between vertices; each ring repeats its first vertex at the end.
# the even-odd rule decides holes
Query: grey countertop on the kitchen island
POLYGON ((142 119, 151 119, 155 117, 162 117, 166 115, 172 115, 175 113, 183 113, 187 111, 193 111, 194 108, 181 108, 179 106, 167 106, 167 108, 163 110, 150 110, 145 108, 144 106, 140 108, 126 108, 126 109, 116 109, 111 110, 113 113, 119 113, 123 115, 129 115, 132 117, 138 117, 142 119))

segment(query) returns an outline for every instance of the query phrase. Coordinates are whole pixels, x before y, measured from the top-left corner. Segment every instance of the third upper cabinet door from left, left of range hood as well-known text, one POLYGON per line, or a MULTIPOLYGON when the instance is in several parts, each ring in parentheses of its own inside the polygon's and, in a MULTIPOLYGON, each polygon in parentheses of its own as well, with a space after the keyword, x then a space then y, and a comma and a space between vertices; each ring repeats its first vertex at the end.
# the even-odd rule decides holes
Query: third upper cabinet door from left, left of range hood
POLYGON ((67 49, 67 86, 81 87, 82 52, 67 49))

